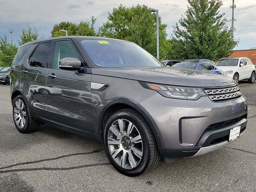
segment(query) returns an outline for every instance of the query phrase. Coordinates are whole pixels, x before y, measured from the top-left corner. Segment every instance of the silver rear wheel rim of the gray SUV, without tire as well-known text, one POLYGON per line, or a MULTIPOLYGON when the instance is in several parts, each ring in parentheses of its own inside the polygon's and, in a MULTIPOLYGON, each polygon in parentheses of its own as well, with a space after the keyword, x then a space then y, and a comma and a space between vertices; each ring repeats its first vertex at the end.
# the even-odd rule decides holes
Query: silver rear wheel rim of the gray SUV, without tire
POLYGON ((17 99, 13 109, 14 122, 18 128, 24 128, 26 124, 26 107, 21 99, 17 99))

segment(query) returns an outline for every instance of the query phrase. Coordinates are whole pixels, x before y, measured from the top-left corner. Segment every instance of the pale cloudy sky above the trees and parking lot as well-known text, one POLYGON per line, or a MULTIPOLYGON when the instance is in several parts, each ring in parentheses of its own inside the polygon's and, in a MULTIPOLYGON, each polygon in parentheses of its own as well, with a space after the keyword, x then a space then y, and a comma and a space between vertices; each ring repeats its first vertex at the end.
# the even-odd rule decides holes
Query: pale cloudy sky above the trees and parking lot
MULTIPOLYGON (((223 0, 220 13, 227 19, 232 18, 230 5, 232 0, 223 0)), ((173 26, 184 15, 187 0, 0 0, 0 36, 6 35, 10 42, 9 29, 13 30, 12 40, 18 44, 22 28, 31 26, 38 29, 39 37, 49 38, 54 24, 62 21, 79 23, 96 18, 96 30, 107 21, 108 12, 120 4, 132 6, 145 4, 159 10, 162 23, 167 24, 168 37, 172 35, 173 26)), ((256 47, 256 0, 235 0, 236 9, 234 37, 240 42, 235 50, 256 47)), ((231 22, 228 22, 231 26, 231 22)))

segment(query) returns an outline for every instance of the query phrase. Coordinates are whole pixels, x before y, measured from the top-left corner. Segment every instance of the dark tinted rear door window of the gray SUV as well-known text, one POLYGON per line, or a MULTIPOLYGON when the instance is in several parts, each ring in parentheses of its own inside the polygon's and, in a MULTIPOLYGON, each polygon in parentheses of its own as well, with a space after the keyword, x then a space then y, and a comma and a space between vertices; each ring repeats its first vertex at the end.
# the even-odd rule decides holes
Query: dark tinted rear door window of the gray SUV
POLYGON ((51 44, 52 43, 49 42, 41 43, 38 45, 32 57, 30 58, 30 66, 42 68, 49 67, 49 55, 51 44))

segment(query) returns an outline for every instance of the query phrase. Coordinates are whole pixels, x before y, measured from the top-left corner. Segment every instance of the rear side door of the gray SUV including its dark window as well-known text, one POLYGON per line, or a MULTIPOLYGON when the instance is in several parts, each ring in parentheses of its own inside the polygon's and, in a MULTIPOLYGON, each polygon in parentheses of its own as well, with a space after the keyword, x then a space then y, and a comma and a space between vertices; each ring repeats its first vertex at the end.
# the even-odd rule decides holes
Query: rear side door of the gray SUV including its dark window
POLYGON ((34 44, 32 53, 21 64, 20 88, 26 96, 32 116, 47 120, 46 76, 50 67, 52 42, 34 44))

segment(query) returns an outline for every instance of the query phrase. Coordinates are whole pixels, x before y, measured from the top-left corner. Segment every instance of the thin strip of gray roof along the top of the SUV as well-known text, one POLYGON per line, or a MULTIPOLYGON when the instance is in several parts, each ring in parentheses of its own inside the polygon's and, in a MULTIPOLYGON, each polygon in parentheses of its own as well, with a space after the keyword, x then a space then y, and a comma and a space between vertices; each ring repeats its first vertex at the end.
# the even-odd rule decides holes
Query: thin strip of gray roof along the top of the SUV
MULTIPOLYGON (((114 38, 107 38, 107 37, 92 37, 92 36, 62 36, 62 37, 53 37, 53 38, 46 38, 46 39, 37 39, 34 41, 30 41, 28 43, 23 44, 22 46, 26 46, 29 44, 34 44, 38 42, 44 42, 44 41, 51 41, 51 40, 58 40, 58 39, 76 39, 76 38, 86 38, 86 39, 100 39, 100 40, 118 40, 118 41, 125 41, 121 39, 114 39, 114 38)), ((127 42, 127 41, 126 41, 127 42)), ((22 47, 21 46, 21 47, 22 47)))

